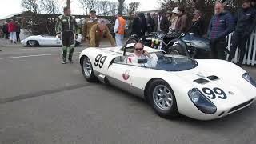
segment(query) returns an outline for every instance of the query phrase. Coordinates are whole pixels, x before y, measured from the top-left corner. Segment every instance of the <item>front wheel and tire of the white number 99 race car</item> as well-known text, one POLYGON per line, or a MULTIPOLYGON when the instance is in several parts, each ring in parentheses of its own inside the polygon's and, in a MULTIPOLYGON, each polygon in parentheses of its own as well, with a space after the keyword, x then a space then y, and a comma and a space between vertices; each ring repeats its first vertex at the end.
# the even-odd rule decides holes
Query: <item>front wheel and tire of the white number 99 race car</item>
POLYGON ((162 118, 175 118, 178 108, 174 92, 167 82, 156 79, 150 83, 148 89, 150 106, 162 118))

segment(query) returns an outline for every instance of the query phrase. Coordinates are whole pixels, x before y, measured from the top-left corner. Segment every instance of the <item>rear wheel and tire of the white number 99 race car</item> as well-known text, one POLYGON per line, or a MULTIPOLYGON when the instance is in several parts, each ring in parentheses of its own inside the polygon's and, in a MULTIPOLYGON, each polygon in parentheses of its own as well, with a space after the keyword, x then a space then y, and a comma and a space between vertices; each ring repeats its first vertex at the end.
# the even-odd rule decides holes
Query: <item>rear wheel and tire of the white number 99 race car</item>
POLYGON ((90 58, 88 58, 87 56, 82 57, 81 68, 82 68, 82 74, 88 82, 98 81, 98 78, 94 75, 94 70, 90 62, 90 58))

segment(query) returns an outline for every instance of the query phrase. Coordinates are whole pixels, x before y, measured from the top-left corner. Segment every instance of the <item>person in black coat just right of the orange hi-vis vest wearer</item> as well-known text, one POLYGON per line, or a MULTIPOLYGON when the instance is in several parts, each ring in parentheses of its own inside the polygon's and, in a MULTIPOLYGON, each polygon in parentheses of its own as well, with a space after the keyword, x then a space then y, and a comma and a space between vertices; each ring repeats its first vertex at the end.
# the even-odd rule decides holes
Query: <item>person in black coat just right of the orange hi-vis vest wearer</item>
POLYGON ((141 19, 138 17, 138 14, 134 14, 134 21, 132 23, 132 34, 136 34, 138 35, 138 37, 142 37, 142 21, 141 19))

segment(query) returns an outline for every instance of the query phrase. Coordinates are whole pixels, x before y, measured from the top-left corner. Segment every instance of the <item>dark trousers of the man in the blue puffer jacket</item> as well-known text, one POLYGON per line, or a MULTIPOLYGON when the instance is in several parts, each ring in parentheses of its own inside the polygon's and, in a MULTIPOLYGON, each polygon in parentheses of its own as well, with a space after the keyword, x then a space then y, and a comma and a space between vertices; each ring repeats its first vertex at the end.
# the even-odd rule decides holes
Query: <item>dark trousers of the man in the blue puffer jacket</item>
POLYGON ((225 60, 226 38, 217 42, 210 42, 210 58, 225 60))

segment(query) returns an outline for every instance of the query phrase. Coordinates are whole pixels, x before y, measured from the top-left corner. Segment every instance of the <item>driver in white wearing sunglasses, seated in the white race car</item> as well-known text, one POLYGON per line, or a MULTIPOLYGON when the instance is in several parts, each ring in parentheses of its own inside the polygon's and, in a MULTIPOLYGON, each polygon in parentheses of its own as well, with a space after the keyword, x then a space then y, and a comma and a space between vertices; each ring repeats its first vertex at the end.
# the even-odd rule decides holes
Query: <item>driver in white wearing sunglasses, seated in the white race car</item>
POLYGON ((147 65, 150 65, 151 60, 153 57, 146 51, 143 50, 144 46, 142 42, 137 42, 134 44, 134 54, 128 56, 127 63, 141 66, 141 64, 138 63, 138 59, 147 59, 147 65))

